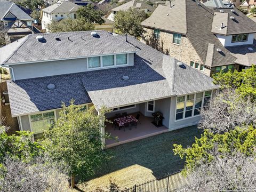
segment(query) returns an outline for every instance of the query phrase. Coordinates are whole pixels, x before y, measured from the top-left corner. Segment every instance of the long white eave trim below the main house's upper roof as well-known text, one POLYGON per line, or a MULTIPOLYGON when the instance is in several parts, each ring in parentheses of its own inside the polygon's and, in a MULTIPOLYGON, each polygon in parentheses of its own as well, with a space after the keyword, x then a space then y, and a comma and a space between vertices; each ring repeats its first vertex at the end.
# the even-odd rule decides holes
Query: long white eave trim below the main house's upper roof
MULTIPOLYGON (((132 51, 132 52, 123 52, 123 53, 112 53, 112 54, 101 54, 101 55, 87 55, 87 56, 81 56, 81 57, 73 57, 73 58, 60 58, 60 59, 46 59, 46 60, 37 60, 37 61, 23 61, 23 62, 14 62, 14 63, 6 63, 6 65, 22 65, 22 64, 29 64, 29 63, 38 63, 38 62, 49 62, 49 61, 63 61, 63 60, 72 60, 72 59, 85 59, 89 57, 100 57, 100 56, 106 56, 106 55, 113 55, 113 54, 129 54, 129 53, 137 53, 138 51, 132 51)), ((123 65, 120 65, 123 66, 123 65)))

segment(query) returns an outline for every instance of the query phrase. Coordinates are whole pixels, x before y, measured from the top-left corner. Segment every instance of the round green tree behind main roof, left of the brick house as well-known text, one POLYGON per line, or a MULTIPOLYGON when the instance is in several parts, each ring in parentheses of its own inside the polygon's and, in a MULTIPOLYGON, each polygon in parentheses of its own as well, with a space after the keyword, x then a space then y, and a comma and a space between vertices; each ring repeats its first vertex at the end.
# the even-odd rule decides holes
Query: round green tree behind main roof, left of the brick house
POLYGON ((145 11, 131 7, 127 11, 118 11, 113 25, 119 34, 128 33, 134 37, 142 37, 145 30, 142 28, 141 22, 147 17, 145 11))

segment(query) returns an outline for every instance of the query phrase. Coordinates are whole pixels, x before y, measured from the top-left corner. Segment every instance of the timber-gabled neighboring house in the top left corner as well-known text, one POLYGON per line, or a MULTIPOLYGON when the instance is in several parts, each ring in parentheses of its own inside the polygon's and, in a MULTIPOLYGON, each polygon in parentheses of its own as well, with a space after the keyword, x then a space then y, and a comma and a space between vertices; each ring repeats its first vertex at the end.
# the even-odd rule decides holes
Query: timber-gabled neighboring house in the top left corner
POLYGON ((6 34, 6 41, 13 42, 28 34, 40 33, 33 27, 33 18, 11 2, 0 1, 0 22, 6 34))

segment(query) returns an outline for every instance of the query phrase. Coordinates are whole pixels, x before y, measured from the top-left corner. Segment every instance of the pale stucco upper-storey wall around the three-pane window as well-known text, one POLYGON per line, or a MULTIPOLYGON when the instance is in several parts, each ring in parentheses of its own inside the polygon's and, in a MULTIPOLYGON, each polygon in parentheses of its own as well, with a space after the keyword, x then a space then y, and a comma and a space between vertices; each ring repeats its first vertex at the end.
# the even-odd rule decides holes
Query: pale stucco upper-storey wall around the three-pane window
MULTIPOLYGON (((128 57, 129 57, 128 66, 132 66, 134 64, 133 63, 134 53, 129 53, 128 57)), ((12 65, 16 80, 35 78, 35 77, 46 77, 46 76, 52 76, 52 75, 79 73, 79 72, 84 72, 89 70, 101 70, 101 69, 125 67, 125 66, 120 65, 120 66, 110 66, 110 67, 103 67, 103 68, 97 68, 97 69, 87 69, 86 58, 12 65)))

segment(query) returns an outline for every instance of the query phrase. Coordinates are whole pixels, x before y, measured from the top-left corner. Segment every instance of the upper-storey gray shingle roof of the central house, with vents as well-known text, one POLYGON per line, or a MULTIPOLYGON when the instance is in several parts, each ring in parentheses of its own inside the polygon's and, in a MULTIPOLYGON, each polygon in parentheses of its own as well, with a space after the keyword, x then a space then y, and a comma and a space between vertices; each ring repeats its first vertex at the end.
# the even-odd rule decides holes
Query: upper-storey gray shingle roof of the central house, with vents
POLYGON ((44 43, 37 41, 37 35, 28 35, 26 41, 22 42, 18 48, 13 47, 12 50, 9 50, 8 58, 1 64, 41 62, 138 51, 132 45, 120 41, 106 31, 98 30, 97 37, 93 37, 91 32, 79 31, 41 34, 46 39, 44 43), (57 41, 55 39, 57 37, 61 41, 57 41), (37 56, 35 57, 35 55, 37 56))

